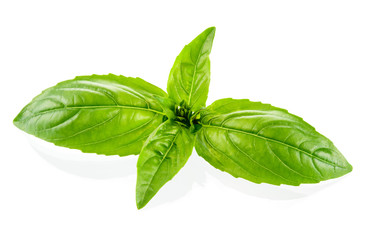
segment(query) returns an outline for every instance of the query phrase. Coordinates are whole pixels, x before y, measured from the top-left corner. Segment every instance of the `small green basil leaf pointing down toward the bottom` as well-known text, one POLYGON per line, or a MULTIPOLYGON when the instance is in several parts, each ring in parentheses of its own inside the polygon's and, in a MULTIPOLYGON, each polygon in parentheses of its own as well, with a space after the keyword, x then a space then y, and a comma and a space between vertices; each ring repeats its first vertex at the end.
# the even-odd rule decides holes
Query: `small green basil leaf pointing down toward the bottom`
POLYGON ((167 121, 146 140, 137 163, 137 208, 144 207, 158 190, 185 165, 195 136, 187 128, 167 121))

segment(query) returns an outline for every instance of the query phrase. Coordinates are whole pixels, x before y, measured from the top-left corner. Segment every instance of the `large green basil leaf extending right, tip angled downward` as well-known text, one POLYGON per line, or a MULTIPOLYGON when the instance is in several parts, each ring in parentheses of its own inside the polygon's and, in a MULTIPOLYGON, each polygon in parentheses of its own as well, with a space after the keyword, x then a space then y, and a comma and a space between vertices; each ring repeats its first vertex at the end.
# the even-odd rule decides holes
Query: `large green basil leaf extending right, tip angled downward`
POLYGON ((352 166, 333 143, 284 109, 222 99, 201 112, 196 150, 214 167, 255 183, 299 185, 352 166))

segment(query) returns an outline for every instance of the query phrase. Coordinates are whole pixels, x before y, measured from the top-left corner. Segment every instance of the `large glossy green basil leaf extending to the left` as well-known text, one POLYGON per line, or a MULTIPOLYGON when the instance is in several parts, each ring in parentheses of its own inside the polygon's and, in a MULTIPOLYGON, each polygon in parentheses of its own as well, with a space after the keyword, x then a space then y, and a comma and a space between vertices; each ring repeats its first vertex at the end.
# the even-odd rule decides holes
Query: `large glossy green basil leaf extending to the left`
POLYGON ((43 91, 19 115, 21 130, 58 146, 105 155, 138 154, 164 113, 160 88, 140 78, 80 76, 43 91))

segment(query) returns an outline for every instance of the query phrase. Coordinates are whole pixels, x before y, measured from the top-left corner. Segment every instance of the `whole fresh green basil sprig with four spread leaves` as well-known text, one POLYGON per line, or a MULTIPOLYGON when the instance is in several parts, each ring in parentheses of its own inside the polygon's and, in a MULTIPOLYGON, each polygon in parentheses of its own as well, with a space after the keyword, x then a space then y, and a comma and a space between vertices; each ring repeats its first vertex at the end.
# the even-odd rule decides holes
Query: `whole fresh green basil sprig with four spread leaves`
POLYGON ((139 154, 136 201, 144 207, 193 151, 255 183, 318 183, 351 172, 326 137, 269 104, 221 99, 205 108, 215 28, 186 45, 167 93, 140 79, 79 76, 46 89, 14 119, 21 130, 87 153, 139 154))

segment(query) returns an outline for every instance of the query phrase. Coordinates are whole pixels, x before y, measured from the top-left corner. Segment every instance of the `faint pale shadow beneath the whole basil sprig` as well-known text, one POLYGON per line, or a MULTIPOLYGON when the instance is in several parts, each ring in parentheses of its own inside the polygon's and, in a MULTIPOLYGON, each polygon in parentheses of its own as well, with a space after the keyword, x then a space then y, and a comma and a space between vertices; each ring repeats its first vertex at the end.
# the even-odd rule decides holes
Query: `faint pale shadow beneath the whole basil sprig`
MULTIPOLYGON (((70 174, 93 179, 111 179, 136 173, 138 157, 135 155, 119 157, 86 154, 79 150, 57 147, 32 136, 28 136, 28 139, 30 145, 43 159, 70 174)), ((215 177, 223 185, 243 194, 272 200, 304 198, 338 181, 334 179, 319 184, 303 184, 299 187, 255 184, 241 178, 233 178, 228 173, 215 169, 194 150, 185 167, 161 188, 157 196, 149 203, 148 208, 183 198, 192 190, 194 184, 204 186, 207 175, 215 177)))

